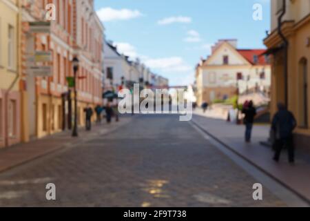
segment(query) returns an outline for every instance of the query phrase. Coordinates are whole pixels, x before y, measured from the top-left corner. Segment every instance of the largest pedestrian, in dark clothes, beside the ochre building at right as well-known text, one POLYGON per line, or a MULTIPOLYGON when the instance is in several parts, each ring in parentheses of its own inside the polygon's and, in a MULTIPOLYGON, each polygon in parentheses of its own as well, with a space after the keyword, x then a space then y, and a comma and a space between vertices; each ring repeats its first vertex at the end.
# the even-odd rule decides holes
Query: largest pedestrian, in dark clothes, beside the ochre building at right
POLYGON ((287 110, 286 106, 282 103, 278 104, 278 112, 274 115, 272 120, 271 129, 275 135, 276 141, 274 147, 276 153, 273 160, 276 162, 280 159, 280 153, 283 146, 287 147, 289 154, 289 162, 294 162, 294 148, 293 148, 293 130, 296 128, 296 119, 293 113, 287 110))

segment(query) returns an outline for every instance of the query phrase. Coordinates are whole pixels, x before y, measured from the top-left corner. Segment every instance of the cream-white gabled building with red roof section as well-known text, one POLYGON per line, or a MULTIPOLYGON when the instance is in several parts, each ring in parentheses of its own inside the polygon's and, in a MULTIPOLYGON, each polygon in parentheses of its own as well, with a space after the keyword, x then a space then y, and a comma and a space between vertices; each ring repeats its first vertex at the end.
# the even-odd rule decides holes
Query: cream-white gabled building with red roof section
POLYGON ((249 90, 268 93, 271 85, 265 49, 238 49, 237 40, 220 40, 196 68, 197 102, 213 102, 249 90), (262 55, 262 56, 261 56, 262 55))

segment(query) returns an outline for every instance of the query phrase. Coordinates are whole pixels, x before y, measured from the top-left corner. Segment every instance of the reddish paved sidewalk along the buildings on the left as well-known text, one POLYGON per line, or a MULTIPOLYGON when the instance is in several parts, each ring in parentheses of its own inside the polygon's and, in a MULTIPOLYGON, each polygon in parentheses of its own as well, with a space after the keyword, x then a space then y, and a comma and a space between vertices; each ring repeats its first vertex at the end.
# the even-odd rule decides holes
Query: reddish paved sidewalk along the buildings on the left
POLYGON ((84 127, 79 128, 79 137, 72 137, 71 131, 63 131, 47 137, 43 137, 38 140, 34 140, 25 144, 17 144, 8 148, 0 149, 0 173, 8 169, 12 169, 15 166, 25 164, 36 158, 48 155, 54 151, 58 151, 61 148, 72 147, 81 142, 87 142, 92 137, 111 133, 120 126, 123 126, 130 122, 131 117, 121 117, 120 122, 112 121, 112 124, 108 125, 103 122, 100 125, 95 123, 92 126, 92 131, 85 131, 84 127))

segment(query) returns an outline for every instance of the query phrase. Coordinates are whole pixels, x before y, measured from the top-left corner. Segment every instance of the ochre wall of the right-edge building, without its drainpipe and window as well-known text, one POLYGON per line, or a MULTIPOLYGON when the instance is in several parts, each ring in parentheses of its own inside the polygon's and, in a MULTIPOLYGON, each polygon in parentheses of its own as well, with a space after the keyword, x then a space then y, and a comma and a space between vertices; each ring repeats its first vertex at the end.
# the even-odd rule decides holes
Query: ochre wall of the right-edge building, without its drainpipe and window
MULTIPOLYGON (((268 48, 276 48, 281 39, 276 32, 276 1, 272 4, 272 30, 273 32, 265 44, 268 48)), ((288 108, 298 121, 296 128, 296 148, 309 148, 310 142, 310 1, 287 1, 287 14, 284 20, 290 20, 282 26, 282 32, 289 41, 288 55, 288 108), (302 127, 302 113, 304 103, 302 101, 302 72, 300 70, 301 59, 307 59, 307 115, 308 127, 302 127)), ((273 55, 272 59, 272 84, 271 84, 271 115, 276 113, 276 104, 285 102, 285 79, 283 76, 283 51, 273 55)))

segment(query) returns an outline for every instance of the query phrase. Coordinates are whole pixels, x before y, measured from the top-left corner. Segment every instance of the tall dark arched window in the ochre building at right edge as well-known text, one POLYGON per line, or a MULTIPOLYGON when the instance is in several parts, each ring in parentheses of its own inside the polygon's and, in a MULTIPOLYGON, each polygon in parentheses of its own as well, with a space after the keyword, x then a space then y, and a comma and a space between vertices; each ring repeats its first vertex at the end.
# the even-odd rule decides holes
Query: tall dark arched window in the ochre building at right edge
POLYGON ((299 63, 299 118, 300 127, 308 128, 308 62, 307 59, 302 58, 299 63))

